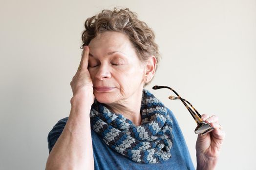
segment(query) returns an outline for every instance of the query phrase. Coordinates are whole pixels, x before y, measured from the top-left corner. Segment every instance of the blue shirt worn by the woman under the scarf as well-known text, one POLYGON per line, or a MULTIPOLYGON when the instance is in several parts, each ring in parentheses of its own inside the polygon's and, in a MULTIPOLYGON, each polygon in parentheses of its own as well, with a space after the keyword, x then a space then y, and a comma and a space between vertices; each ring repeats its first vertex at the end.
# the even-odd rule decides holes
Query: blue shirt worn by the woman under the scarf
MULTIPOLYGON (((172 119, 173 143, 171 158, 157 164, 137 163, 121 153, 117 153, 91 129, 95 170, 194 170, 191 156, 173 113, 168 109, 172 119)), ((68 117, 61 119, 48 134, 48 149, 51 152, 55 142, 61 135, 68 117)))

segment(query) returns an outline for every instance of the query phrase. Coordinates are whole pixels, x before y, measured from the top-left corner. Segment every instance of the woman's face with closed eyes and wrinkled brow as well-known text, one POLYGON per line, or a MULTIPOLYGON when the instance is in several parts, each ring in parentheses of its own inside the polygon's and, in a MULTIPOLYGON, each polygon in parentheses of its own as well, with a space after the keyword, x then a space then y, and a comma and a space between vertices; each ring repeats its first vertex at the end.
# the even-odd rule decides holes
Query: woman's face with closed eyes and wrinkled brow
POLYGON ((142 93, 144 66, 128 35, 105 32, 92 39, 88 46, 88 70, 97 101, 125 102, 142 93))

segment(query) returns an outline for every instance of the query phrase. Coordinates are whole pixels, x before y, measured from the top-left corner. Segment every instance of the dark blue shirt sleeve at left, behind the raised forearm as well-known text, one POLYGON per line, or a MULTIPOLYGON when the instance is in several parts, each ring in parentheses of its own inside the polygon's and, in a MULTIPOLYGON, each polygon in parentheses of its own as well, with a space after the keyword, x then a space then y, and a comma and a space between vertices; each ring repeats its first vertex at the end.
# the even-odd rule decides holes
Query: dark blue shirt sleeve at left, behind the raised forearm
POLYGON ((54 144, 61 136, 62 131, 66 125, 68 117, 60 119, 52 128, 52 130, 48 133, 47 141, 48 141, 48 149, 49 153, 51 152, 54 144))

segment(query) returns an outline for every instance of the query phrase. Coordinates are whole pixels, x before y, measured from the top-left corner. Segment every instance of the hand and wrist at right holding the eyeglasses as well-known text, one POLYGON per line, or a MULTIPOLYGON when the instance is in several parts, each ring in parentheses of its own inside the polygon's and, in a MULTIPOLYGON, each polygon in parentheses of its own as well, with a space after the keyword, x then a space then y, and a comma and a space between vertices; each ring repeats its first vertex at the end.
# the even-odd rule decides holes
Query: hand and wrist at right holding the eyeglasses
POLYGON ((211 124, 214 130, 206 135, 198 135, 195 145, 197 170, 213 170, 218 161, 220 148, 225 138, 225 132, 221 130, 218 117, 207 114, 202 115, 206 123, 211 124))

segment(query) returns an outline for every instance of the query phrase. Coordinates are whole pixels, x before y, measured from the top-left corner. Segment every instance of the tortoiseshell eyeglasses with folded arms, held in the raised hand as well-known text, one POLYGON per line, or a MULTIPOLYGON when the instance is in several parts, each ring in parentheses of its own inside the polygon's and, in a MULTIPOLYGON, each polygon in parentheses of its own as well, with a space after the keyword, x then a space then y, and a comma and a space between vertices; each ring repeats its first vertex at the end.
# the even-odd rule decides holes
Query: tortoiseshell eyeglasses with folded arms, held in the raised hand
POLYGON ((194 133, 195 134, 201 134, 201 135, 205 135, 211 131, 213 131, 213 127, 209 124, 209 123, 206 123, 204 122, 202 119, 201 119, 201 115, 197 112, 197 110, 195 110, 195 108, 192 106, 192 104, 190 102, 188 102, 187 100, 185 99, 182 99, 180 97, 180 95, 175 91, 173 90, 171 87, 168 87, 168 86, 160 86, 160 85, 155 85, 153 86, 153 89, 156 90, 156 89, 160 89, 160 88, 169 88, 171 91, 173 91, 178 97, 175 97, 175 96, 169 96, 169 99, 171 100, 175 100, 175 99, 179 99, 181 100, 181 102, 183 102, 183 104, 187 107, 187 109, 189 110, 191 116, 193 117, 193 119, 195 120, 197 126, 194 130, 194 133), (189 105, 187 103, 189 103, 189 105, 193 108, 193 111, 189 105))

